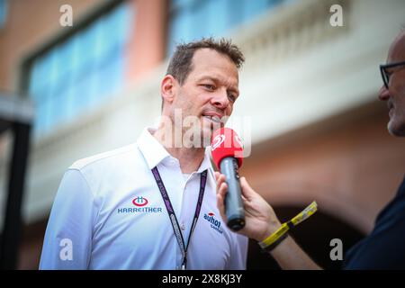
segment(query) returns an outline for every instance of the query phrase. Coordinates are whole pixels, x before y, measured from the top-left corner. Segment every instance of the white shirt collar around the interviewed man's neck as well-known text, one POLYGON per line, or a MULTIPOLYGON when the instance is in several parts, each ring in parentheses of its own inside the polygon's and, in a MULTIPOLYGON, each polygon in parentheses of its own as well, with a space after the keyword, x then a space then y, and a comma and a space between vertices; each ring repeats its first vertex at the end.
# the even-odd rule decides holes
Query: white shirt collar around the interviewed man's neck
MULTIPOLYGON (((159 141, 157 141, 157 139, 153 137, 152 133, 155 130, 156 129, 145 128, 144 130, 142 130, 142 133, 137 140, 139 150, 143 154, 143 157, 145 157, 149 169, 157 166, 166 158, 174 158, 167 152, 166 148, 164 148, 162 144, 160 144, 159 141)), ((209 148, 205 148, 205 155, 202 160, 202 164, 196 171, 197 173, 202 173, 202 171, 204 171, 205 169, 208 169, 210 171, 212 170, 210 157, 211 153, 209 153, 209 151, 209 148)), ((213 172, 211 171, 211 173, 213 172)))

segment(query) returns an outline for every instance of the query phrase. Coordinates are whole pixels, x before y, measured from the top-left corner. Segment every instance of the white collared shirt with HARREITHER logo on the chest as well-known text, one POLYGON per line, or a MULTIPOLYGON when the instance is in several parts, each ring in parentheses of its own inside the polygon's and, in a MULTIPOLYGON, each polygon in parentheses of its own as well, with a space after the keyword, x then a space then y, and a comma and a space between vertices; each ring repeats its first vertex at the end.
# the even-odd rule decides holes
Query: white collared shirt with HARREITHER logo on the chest
POLYGON ((187 269, 246 269, 247 238, 229 231, 216 206, 209 155, 188 179, 145 129, 135 144, 76 161, 49 216, 40 269, 178 269, 182 254, 151 169, 157 166, 184 241, 200 175, 208 169, 187 269))

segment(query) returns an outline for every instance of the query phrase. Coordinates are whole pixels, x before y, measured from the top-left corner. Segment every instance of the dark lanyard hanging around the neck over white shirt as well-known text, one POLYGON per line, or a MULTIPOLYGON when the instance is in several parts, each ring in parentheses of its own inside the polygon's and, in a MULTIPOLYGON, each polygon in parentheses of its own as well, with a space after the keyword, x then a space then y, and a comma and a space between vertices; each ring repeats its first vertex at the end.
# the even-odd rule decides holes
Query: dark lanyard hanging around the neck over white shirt
POLYGON ((170 218, 170 222, 172 223, 173 231, 175 232, 175 238, 177 239, 178 246, 182 251, 182 269, 185 270, 187 265, 187 249, 188 245, 190 244, 190 238, 193 234, 193 230, 195 225, 197 224, 198 216, 200 215, 201 205, 202 205, 202 198, 204 196, 205 184, 207 183, 207 170, 202 171, 201 180, 200 180, 200 193, 198 195, 197 206, 195 207, 195 213, 193 218, 193 224, 190 229, 190 234, 188 235, 187 239, 187 246, 184 244, 183 234, 180 230, 180 226, 178 225, 177 218, 175 217, 175 211, 173 210, 172 202, 170 202, 170 198, 166 192, 165 184, 163 184, 162 178, 159 175, 159 171, 157 171, 157 166, 152 169, 152 173, 155 176, 155 180, 157 183, 157 187, 162 194, 163 202, 165 202, 166 209, 170 218))

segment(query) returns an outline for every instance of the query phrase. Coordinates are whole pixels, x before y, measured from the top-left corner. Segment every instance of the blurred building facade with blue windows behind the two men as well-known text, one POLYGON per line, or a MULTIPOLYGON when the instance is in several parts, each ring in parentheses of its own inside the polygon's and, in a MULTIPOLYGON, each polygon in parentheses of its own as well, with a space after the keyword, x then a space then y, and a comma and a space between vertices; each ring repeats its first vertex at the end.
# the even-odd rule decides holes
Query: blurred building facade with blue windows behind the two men
MULTIPOLYGON (((388 111, 377 99, 378 65, 404 24, 401 0, 14 0, 2 6, 0 89, 31 97, 37 112, 22 269, 38 267, 67 167, 129 144, 156 123, 160 80, 180 41, 225 36, 244 51, 230 121, 251 141, 241 173, 281 220, 318 202, 319 215, 294 236, 321 265, 338 268, 329 241, 341 238, 347 249, 370 232, 404 176, 404 141, 388 134, 388 111), (60 23, 66 4, 72 26, 60 23), (334 4, 342 8, 343 26, 331 22, 334 4)), ((0 141, 2 184, 9 142, 0 141)), ((248 268, 276 267, 251 244, 248 268)))

